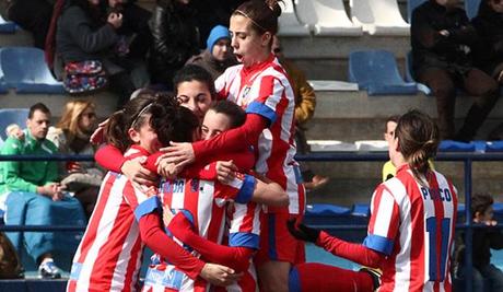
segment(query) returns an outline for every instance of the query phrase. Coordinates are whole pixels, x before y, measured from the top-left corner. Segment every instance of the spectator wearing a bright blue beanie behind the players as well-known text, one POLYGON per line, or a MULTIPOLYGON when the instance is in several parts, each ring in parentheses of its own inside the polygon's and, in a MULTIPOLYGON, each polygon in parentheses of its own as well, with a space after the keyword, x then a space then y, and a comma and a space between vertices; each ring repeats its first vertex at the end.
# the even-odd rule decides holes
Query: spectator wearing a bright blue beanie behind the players
POLYGON ((213 80, 229 67, 237 65, 237 60, 232 54, 229 28, 223 25, 213 27, 210 36, 208 36, 207 48, 201 54, 190 58, 187 63, 204 68, 210 72, 213 80))

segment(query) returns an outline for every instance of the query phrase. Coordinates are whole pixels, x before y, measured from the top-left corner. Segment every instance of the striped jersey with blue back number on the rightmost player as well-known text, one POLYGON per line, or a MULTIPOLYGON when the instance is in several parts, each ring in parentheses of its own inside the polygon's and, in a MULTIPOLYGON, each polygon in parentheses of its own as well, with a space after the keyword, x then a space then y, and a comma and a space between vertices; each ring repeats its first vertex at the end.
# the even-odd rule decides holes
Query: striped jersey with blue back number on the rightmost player
POLYGON ((430 173, 428 185, 418 184, 405 165, 372 197, 363 244, 387 255, 379 291, 452 290, 456 189, 437 172, 430 173))

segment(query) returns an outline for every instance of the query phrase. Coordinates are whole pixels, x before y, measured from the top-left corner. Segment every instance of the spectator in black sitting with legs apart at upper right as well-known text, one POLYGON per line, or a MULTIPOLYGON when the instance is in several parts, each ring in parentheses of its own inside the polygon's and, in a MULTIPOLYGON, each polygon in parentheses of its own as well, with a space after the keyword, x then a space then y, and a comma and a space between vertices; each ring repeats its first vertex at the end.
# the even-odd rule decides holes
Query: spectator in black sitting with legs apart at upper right
POLYGON ((436 97, 443 139, 470 141, 498 98, 496 82, 473 67, 478 37, 457 0, 429 0, 412 12, 413 70, 436 97), (476 96, 463 127, 455 133, 456 90, 476 96))

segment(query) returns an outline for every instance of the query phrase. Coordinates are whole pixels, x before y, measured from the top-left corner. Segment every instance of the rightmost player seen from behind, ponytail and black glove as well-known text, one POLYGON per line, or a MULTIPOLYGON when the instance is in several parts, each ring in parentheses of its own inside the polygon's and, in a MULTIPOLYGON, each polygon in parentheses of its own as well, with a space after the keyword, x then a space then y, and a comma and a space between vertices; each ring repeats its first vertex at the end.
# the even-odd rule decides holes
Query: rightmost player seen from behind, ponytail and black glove
MULTIPOLYGON (((457 195, 449 180, 431 170, 429 159, 438 142, 438 129, 425 114, 411 110, 398 119, 389 141, 397 174, 374 191, 363 244, 295 222, 289 222, 291 233, 336 256, 381 269, 378 291, 451 291, 457 195)), ((290 275, 290 291, 374 291, 378 281, 373 280, 363 271, 303 264, 290 275)))

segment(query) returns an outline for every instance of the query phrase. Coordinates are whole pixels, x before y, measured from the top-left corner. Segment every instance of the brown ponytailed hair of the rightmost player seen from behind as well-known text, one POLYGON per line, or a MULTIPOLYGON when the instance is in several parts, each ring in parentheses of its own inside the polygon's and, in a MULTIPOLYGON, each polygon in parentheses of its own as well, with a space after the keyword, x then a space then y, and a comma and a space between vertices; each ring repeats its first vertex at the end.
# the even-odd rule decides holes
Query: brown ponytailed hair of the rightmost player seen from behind
POLYGON ((416 179, 423 183, 423 177, 430 171, 429 160, 436 155, 438 149, 438 128, 435 122, 424 113, 409 110, 398 119, 395 137, 416 179))

